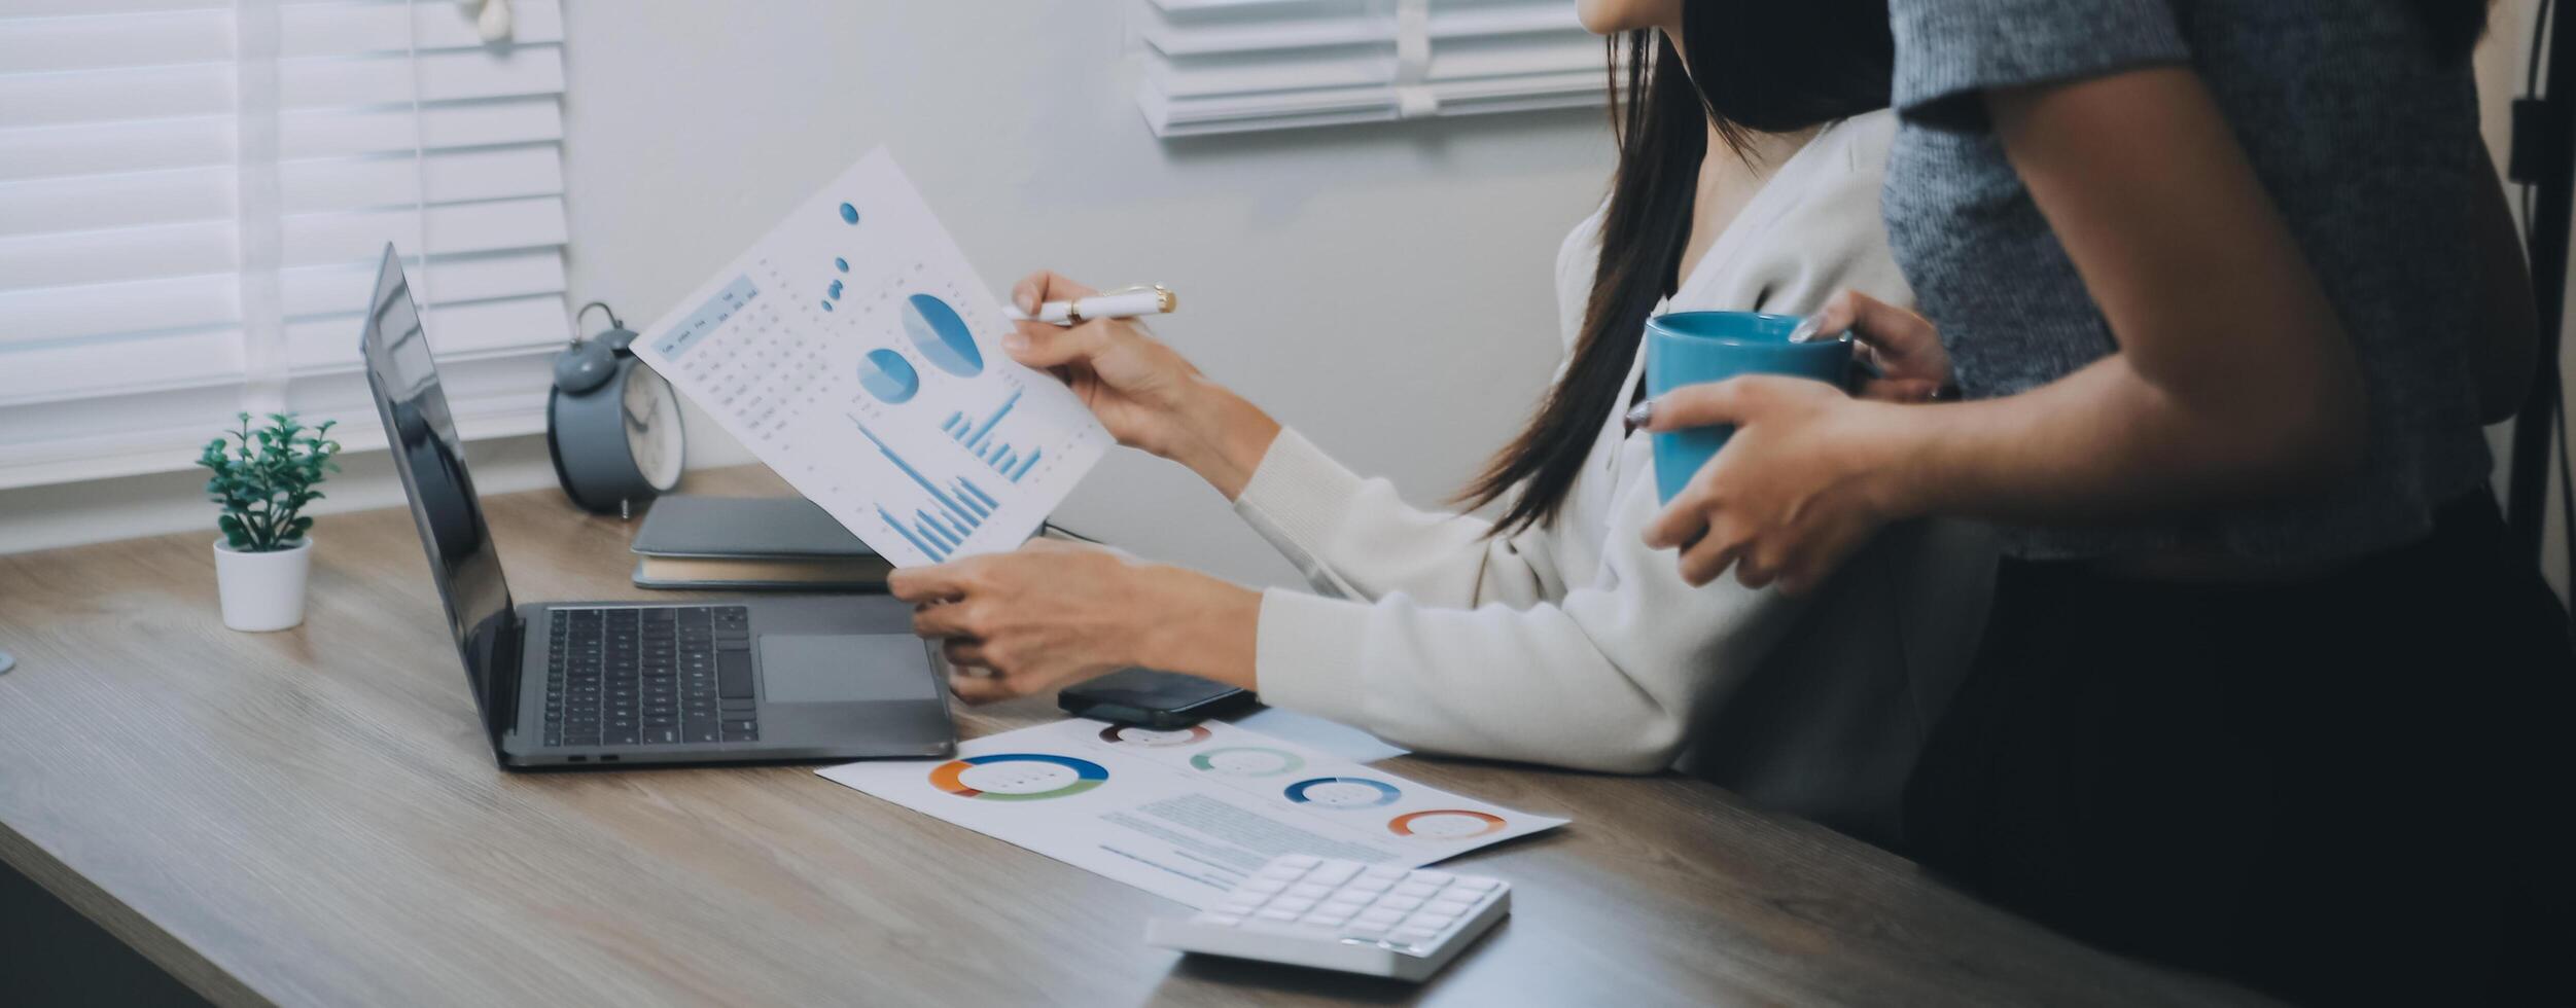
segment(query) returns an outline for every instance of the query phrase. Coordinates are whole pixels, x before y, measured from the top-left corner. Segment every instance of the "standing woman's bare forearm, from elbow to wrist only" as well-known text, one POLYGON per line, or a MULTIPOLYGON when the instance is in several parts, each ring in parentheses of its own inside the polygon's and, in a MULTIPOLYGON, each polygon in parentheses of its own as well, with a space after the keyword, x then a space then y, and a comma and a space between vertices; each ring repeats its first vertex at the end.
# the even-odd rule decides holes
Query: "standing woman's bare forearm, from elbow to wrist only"
POLYGON ((1891 517, 2120 522, 2275 496, 2352 465, 2342 440, 2192 404, 2125 355, 2020 396, 1880 409, 1891 517))

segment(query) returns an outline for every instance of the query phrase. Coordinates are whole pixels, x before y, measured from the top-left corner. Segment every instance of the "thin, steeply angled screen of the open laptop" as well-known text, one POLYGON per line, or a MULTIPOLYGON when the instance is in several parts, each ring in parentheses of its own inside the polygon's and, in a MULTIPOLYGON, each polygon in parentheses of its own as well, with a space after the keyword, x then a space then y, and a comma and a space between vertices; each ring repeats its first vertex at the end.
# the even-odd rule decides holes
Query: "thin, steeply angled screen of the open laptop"
POLYGON ((464 442, 456 440, 448 396, 438 388, 420 306, 412 303, 402 257, 392 244, 384 247, 376 296, 358 339, 366 381, 376 391, 376 414, 384 419, 384 442, 412 499, 412 519, 420 522, 420 543, 430 553, 430 579, 438 581, 438 597, 448 607, 456 653, 474 681, 484 728, 500 735, 510 712, 510 694, 500 689, 513 684, 495 681, 500 679, 495 669, 518 658, 495 653, 513 640, 510 584, 500 573, 500 550, 492 548, 474 478, 466 476, 464 442))

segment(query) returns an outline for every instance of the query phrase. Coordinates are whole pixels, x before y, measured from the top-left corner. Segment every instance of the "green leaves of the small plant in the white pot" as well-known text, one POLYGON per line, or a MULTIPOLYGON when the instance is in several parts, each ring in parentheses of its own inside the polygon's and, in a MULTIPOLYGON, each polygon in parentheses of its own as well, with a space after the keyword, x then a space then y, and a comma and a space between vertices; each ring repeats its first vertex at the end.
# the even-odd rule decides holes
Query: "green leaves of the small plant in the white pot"
POLYGON ((304 504, 319 501, 314 486, 340 471, 332 463, 340 453, 340 442, 330 440, 332 424, 304 427, 296 414, 268 414, 268 427, 250 427, 250 414, 240 414, 240 427, 206 442, 196 463, 214 473, 206 496, 224 507, 224 517, 214 519, 224 545, 240 553, 304 545, 304 532, 314 527, 304 504))

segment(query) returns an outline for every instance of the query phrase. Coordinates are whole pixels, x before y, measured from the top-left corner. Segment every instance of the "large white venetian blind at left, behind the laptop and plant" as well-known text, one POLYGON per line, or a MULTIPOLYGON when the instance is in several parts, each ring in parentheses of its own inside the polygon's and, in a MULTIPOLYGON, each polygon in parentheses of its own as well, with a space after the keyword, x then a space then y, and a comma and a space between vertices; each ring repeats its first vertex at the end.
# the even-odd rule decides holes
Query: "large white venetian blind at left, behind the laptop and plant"
POLYGON ((0 486, 185 468, 240 409, 381 442, 394 242, 469 437, 567 334, 559 0, 0 0, 0 486))

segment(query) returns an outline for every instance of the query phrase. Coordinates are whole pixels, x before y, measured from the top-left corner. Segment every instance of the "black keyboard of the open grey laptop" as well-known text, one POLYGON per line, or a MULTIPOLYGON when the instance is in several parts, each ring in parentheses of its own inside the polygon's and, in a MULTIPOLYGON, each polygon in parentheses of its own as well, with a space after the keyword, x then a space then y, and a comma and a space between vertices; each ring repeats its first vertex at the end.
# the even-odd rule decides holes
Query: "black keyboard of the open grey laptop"
POLYGON ((750 609, 549 615, 546 746, 760 741, 750 609))

